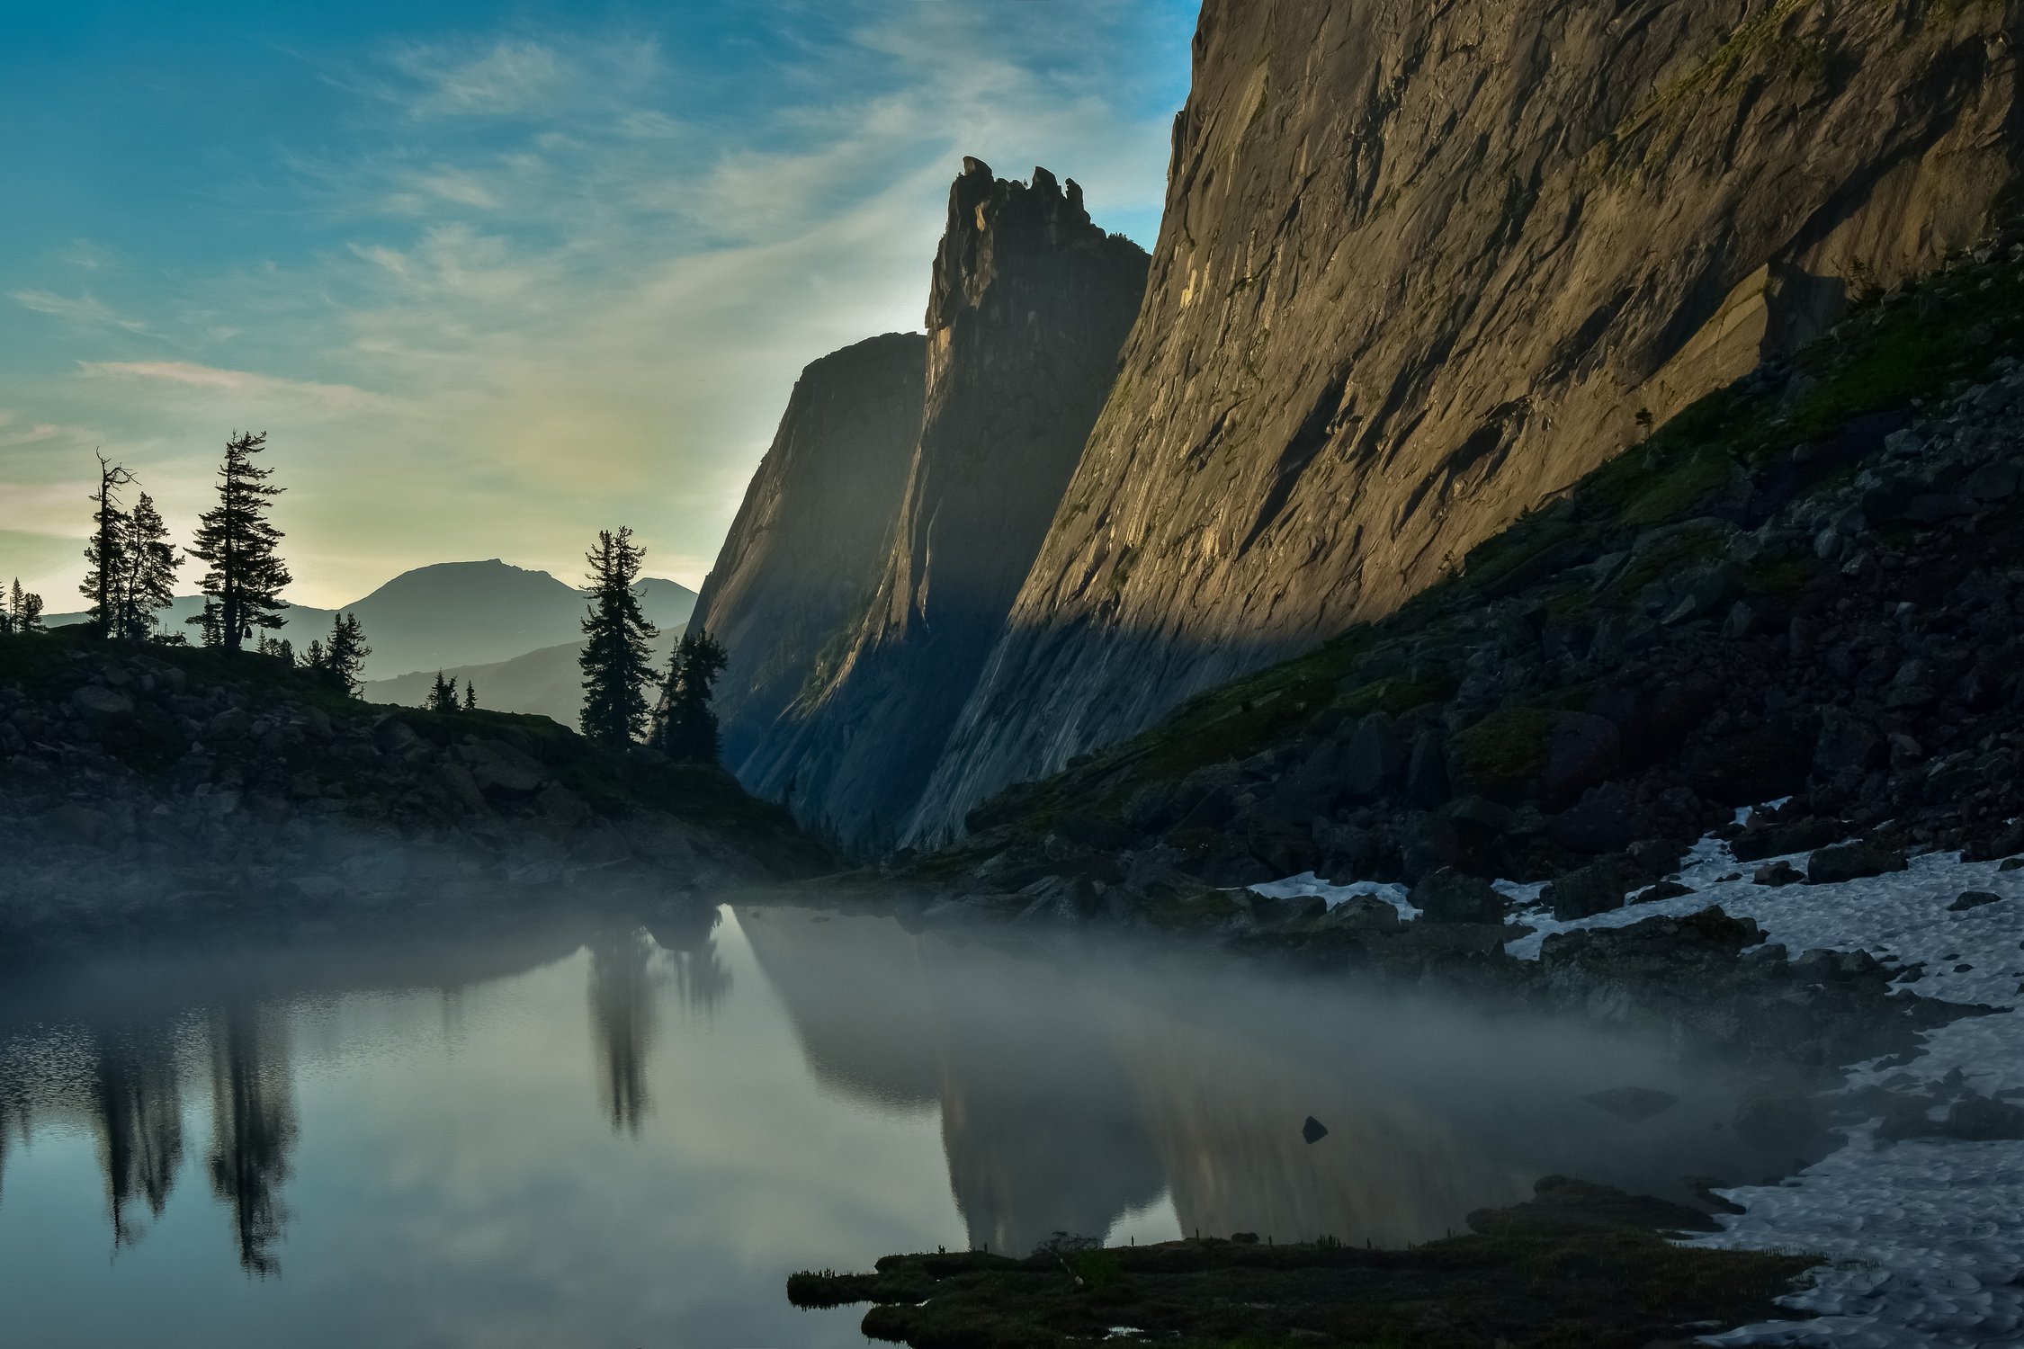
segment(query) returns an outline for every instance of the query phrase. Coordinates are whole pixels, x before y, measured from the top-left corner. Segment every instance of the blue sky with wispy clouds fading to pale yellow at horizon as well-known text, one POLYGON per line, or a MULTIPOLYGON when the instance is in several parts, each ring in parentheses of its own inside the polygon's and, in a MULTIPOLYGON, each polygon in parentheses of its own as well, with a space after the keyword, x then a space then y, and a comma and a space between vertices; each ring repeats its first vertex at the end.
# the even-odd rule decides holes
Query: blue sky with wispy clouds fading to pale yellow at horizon
POLYGON ((621 524, 696 587, 965 154, 1154 243, 1196 10, 0 0, 0 578, 77 607, 95 451, 186 542, 265 431, 298 603, 621 524))

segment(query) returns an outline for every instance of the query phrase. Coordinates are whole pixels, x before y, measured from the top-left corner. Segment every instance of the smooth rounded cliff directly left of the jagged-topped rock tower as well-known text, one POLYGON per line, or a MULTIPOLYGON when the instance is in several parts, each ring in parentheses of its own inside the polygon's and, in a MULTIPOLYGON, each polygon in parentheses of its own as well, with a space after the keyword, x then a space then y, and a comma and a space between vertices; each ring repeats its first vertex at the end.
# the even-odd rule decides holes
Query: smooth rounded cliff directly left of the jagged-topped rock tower
POLYGON ((733 773, 878 584, 925 380, 927 340, 887 334, 824 356, 793 386, 690 617, 731 653, 716 712, 733 773))

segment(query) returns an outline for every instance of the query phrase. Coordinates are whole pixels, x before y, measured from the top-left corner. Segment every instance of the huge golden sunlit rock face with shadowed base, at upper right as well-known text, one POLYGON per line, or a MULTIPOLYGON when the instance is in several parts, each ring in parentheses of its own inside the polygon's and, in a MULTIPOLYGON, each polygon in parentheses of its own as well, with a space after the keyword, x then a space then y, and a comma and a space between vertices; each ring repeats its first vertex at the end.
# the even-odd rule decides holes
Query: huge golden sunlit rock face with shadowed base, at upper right
POLYGON ((1395 609, 1973 241, 2016 20, 1206 0, 1144 313, 907 833, 1395 609))

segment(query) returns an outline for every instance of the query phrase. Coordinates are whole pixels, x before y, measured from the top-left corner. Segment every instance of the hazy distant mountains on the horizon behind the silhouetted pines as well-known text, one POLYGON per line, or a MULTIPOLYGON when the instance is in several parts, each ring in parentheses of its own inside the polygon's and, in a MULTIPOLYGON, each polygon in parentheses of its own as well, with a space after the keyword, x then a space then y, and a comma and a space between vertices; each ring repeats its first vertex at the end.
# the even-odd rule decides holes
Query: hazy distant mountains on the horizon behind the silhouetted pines
MULTIPOLYGON (((688 621, 696 593, 674 580, 640 582, 648 617, 660 627, 688 621)), ((200 613, 204 601, 178 597, 166 627, 190 631, 182 619, 200 613)), ((583 593, 549 572, 490 562, 437 562, 401 572, 338 613, 358 615, 372 655, 366 678, 387 680, 409 671, 506 661, 540 647, 579 641, 585 613, 583 593)), ((334 611, 289 605, 287 625, 275 635, 302 651, 330 631, 334 611)), ((83 623, 85 615, 65 613, 51 627, 83 623)))

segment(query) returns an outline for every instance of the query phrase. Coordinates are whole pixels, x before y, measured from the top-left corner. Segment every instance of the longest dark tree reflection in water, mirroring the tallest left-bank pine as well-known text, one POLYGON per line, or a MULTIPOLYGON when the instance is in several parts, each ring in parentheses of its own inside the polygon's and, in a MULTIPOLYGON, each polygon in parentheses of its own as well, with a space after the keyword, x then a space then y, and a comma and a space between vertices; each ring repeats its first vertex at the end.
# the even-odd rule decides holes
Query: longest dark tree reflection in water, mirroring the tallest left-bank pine
POLYGON ((285 1025, 259 1007, 227 1007, 210 1023, 210 1189, 233 1209, 247 1274, 281 1268, 271 1246, 287 1222, 279 1191, 293 1145, 285 1025))

